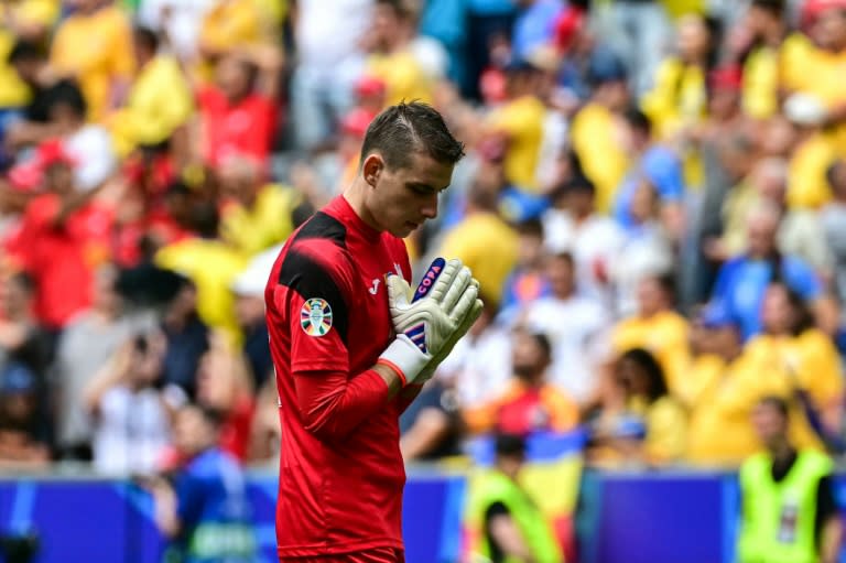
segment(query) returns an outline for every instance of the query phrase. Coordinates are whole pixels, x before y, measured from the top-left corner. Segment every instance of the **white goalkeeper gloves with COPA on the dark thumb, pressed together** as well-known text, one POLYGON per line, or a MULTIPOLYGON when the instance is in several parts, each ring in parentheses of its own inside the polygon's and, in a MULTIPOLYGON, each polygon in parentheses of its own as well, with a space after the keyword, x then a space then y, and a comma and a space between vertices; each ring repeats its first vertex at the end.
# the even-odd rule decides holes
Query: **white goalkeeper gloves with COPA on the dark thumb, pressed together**
POLYGON ((409 284, 389 275, 388 304, 397 338, 378 362, 403 386, 424 383, 481 313, 479 284, 459 260, 435 259, 412 296, 409 284))

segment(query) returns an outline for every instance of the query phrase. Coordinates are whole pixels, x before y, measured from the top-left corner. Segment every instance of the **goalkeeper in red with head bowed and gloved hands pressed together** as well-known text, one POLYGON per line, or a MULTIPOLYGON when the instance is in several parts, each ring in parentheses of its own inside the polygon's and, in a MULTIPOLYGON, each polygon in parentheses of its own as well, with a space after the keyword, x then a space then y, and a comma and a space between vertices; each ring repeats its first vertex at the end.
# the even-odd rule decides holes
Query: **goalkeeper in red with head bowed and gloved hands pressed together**
POLYGON ((399 416, 481 302, 457 260, 435 260, 412 290, 402 238, 437 215, 463 155, 431 107, 386 109, 367 130, 352 184, 276 259, 265 301, 283 563, 404 561, 399 416))

